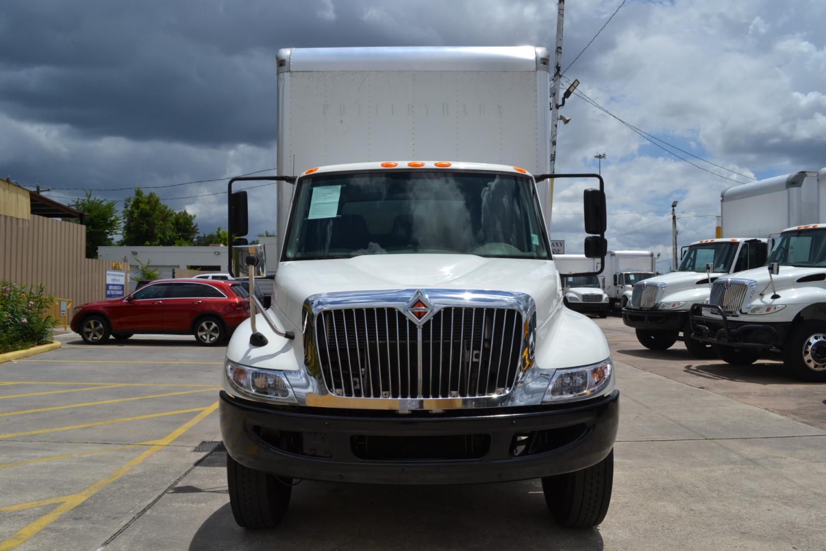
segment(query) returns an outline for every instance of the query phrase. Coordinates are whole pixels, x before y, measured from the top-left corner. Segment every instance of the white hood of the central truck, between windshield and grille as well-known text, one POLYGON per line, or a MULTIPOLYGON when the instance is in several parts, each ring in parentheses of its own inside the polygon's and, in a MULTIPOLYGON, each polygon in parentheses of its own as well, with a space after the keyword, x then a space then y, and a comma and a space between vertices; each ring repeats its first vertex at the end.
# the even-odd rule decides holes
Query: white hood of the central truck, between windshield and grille
POLYGON ((312 295, 427 288, 524 292, 534 298, 538 325, 548 319, 561 299, 551 260, 489 259, 472 254, 369 254, 351 259, 282 262, 273 309, 300 330, 301 308, 312 295))

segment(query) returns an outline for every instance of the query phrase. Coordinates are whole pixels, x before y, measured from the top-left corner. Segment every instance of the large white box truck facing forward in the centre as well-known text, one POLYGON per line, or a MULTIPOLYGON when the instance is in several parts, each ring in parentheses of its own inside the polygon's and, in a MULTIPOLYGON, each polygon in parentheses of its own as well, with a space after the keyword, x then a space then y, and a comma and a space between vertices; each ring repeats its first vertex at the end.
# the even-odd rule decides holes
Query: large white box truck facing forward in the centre
MULTIPOLYGON (((563 307, 550 253, 548 51, 277 59, 291 175, 269 178, 273 306, 235 330, 220 400, 236 522, 277 525, 295 479, 539 477, 558 523, 600 523, 619 394, 605 336, 563 307)), ((585 250, 602 258, 602 179, 567 176, 557 188, 591 183, 585 250)), ((254 178, 230 181, 235 244, 247 221, 233 185, 254 178)))

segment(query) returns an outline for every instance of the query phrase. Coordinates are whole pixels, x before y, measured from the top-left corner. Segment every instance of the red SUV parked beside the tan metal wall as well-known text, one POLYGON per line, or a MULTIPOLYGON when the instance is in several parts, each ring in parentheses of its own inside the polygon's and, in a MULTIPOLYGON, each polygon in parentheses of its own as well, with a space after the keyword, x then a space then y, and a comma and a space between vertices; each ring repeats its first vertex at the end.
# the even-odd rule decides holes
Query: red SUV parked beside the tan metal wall
POLYGON ((233 281, 160 279, 124 298, 88 302, 74 309, 72 330, 89 344, 128 339, 135 333, 195 335, 220 344, 249 317, 249 293, 233 281))

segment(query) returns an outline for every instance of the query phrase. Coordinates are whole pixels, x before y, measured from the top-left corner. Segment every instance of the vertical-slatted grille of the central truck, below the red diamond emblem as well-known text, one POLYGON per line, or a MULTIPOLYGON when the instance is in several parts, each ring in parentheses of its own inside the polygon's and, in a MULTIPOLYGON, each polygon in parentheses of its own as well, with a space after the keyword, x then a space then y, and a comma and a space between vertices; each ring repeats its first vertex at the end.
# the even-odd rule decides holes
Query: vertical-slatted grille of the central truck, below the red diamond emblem
POLYGON ((421 328, 396 308, 320 311, 318 365, 342 397, 489 396, 514 385, 522 328, 508 308, 445 307, 421 328))

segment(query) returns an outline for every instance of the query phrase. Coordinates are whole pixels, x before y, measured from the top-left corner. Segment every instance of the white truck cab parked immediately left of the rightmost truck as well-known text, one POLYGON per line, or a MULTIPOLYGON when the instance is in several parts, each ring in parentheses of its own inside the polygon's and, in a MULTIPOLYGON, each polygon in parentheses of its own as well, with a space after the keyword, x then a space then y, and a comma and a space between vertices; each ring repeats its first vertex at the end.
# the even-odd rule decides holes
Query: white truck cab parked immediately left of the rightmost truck
POLYGON ((689 311, 705 301, 711 284, 729 273, 762 266, 767 239, 719 238, 695 241, 683 249, 676 272, 635 283, 623 323, 633 327, 637 340, 648 349, 665 350, 680 339, 695 358, 716 357, 704 341, 691 338, 689 311))

